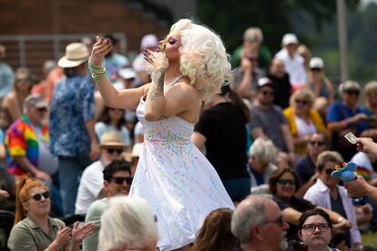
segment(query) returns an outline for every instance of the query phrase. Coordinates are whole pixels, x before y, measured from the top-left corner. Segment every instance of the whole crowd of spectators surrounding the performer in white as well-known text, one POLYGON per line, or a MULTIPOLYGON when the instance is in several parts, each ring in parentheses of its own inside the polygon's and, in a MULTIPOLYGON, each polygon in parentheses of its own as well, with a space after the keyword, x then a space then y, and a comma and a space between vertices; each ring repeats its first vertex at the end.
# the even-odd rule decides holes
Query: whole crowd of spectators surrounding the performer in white
MULTIPOLYGON (((117 90, 148 83, 142 54, 129 60, 107 37, 117 90)), ((362 250, 360 229, 377 229, 377 203, 354 204, 331 172, 352 160, 377 186, 376 157, 344 138, 377 141, 377 82, 335 86, 296 35, 284 35, 275 55, 263 39, 260 28, 245 31, 233 77, 203 105, 191 136, 237 207, 210 213, 190 249, 362 250)), ((0 45, 1 250, 155 250, 158 212, 127 197, 143 128, 134 110, 103 105, 87 74, 90 46, 67 45, 37 82, 27 67, 14 74, 0 45)), ((156 35, 141 40, 140 52, 157 48, 156 35)))

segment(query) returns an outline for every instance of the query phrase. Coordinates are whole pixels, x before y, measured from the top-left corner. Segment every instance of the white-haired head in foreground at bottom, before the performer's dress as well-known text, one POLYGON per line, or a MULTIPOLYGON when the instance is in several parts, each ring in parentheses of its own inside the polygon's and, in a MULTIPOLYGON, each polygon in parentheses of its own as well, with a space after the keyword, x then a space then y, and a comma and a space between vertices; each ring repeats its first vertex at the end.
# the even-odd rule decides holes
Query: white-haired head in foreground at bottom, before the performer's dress
POLYGON ((156 250, 156 219, 148 202, 143 198, 110 198, 101 217, 98 251, 156 250))

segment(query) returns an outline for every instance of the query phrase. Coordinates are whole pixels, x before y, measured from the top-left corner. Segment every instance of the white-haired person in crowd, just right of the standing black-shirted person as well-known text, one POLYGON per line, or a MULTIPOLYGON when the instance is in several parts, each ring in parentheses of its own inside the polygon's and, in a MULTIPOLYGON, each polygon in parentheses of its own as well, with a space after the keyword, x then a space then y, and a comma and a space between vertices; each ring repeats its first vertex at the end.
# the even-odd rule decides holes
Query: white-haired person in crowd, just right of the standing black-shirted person
POLYGON ((269 194, 270 175, 278 168, 272 141, 257 138, 249 150, 251 194, 269 194))

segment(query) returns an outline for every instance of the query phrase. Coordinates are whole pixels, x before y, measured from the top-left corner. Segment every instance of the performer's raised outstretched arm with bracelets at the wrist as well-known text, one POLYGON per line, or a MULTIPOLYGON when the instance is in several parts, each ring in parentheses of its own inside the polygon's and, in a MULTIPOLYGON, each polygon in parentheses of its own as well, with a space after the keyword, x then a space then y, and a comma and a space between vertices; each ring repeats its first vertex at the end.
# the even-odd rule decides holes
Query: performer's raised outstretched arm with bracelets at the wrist
MULTIPOLYGON (((148 91, 148 85, 142 85, 138 88, 126 89, 117 91, 114 85, 108 80, 106 73, 104 77, 101 77, 100 67, 103 63, 105 55, 109 53, 111 49, 110 40, 107 38, 99 37, 97 35, 97 42, 93 45, 92 54, 89 58, 89 67, 92 71, 99 72, 97 77, 94 77, 98 90, 104 99, 105 105, 118 108, 118 109, 135 109, 138 106, 141 96, 148 91), (90 64, 94 64, 94 67, 90 64)), ((103 66, 102 66, 103 68, 103 66)))

